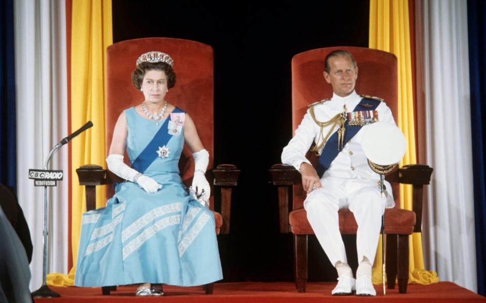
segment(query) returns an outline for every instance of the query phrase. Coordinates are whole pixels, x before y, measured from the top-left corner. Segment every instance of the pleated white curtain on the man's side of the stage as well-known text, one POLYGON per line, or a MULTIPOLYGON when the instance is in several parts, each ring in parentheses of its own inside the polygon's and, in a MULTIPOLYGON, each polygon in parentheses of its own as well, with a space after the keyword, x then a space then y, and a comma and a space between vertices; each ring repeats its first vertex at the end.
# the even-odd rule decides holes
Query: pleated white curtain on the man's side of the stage
POLYGON ((434 168, 423 217, 425 267, 476 291, 467 2, 416 4, 418 96, 434 168))

